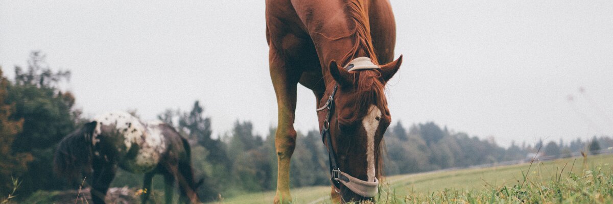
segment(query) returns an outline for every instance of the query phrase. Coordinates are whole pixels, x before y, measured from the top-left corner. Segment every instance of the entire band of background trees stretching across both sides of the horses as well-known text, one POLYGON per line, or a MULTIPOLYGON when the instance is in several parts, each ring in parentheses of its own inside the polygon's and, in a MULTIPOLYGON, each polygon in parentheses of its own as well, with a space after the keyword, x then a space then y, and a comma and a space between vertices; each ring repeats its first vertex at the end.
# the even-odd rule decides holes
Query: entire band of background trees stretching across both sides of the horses
MULTIPOLYGON (((0 68, 0 197, 12 190, 12 177, 21 181, 18 198, 38 190, 78 188, 51 171, 53 151, 61 138, 88 121, 74 107, 75 97, 58 88, 70 72, 52 71, 45 55, 32 52, 28 67, 15 67, 12 81, 2 76, 0 68)), ((236 121, 232 130, 212 137, 213 119, 198 101, 191 110, 166 110, 158 118, 188 138, 196 178, 205 179, 199 188, 203 200, 275 189, 274 128, 259 135, 250 121, 236 121)), ((454 132, 435 123, 413 124, 408 129, 397 123, 388 128, 384 142, 386 175, 527 159, 539 146, 543 146, 541 153, 556 157, 577 151, 598 153, 598 149, 613 146, 611 137, 594 137, 589 142, 512 143, 503 148, 493 139, 454 132)), ((318 130, 299 132, 291 163, 292 187, 328 185, 327 159, 318 130)), ((163 189, 162 178, 154 179, 153 190, 163 189)), ((142 187, 142 175, 120 171, 112 186, 126 185, 142 187)))

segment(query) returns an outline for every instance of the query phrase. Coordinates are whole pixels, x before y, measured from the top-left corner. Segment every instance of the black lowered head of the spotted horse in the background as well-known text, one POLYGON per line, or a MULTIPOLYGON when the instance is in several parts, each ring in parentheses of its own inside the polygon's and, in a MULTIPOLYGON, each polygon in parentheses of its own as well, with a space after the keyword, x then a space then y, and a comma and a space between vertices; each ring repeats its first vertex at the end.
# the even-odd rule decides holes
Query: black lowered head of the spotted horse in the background
POLYGON ((74 179, 91 167, 91 135, 96 122, 85 124, 59 142, 53 157, 53 170, 61 177, 74 179))

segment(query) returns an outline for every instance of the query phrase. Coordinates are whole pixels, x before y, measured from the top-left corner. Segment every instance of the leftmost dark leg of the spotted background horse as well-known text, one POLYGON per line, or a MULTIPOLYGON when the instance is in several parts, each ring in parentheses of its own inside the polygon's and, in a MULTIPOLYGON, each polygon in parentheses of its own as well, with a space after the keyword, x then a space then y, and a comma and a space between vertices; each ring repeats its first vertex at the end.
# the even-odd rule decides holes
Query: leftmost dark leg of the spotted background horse
POLYGON ((91 178, 91 200, 94 204, 104 204, 104 197, 117 169, 115 164, 104 159, 94 159, 92 167, 94 172, 91 178))

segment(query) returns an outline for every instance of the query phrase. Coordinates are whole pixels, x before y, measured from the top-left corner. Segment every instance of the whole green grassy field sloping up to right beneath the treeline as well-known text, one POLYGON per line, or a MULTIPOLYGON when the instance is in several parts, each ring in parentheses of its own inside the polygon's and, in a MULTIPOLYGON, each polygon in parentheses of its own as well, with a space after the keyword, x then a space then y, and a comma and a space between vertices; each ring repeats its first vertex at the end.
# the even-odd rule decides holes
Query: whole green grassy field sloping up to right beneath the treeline
MULTIPOLYGON (((613 203, 611 165, 613 156, 608 155, 589 156, 585 164, 583 157, 575 157, 535 161, 531 167, 526 163, 389 176, 384 181, 378 199, 383 203, 487 203, 522 200, 613 203), (571 169, 573 174, 569 174, 571 169), (525 182, 522 172, 527 173, 525 182)), ((292 189, 295 203, 330 203, 329 194, 328 186, 292 189)), ((273 191, 245 194, 224 198, 221 203, 272 203, 274 195, 273 191)))

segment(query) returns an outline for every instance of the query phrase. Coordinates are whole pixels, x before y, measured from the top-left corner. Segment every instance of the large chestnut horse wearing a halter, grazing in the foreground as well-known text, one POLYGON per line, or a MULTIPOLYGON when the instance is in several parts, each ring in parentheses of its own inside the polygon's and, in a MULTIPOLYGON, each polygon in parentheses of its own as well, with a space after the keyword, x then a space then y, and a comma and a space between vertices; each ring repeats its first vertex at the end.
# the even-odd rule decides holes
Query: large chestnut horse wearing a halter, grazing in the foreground
POLYGON ((291 201, 298 83, 313 90, 322 107, 319 129, 331 141, 325 143, 333 200, 374 197, 383 164, 379 143, 390 124, 384 85, 402 62, 402 56, 392 62, 395 32, 388 0, 266 1, 270 77, 278 105, 275 203, 291 201))

